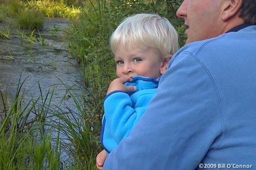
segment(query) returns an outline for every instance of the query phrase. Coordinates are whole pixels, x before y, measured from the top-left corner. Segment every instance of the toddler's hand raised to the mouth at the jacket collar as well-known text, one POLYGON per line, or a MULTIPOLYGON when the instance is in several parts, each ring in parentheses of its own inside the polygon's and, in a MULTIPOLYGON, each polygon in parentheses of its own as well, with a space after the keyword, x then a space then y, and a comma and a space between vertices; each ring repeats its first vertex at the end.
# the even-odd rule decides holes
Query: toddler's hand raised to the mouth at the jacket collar
POLYGON ((125 86, 124 83, 132 81, 132 78, 130 77, 121 77, 118 79, 114 79, 109 86, 109 89, 107 91, 107 95, 112 92, 112 91, 124 91, 124 92, 129 92, 129 91, 136 91, 135 86, 125 86))

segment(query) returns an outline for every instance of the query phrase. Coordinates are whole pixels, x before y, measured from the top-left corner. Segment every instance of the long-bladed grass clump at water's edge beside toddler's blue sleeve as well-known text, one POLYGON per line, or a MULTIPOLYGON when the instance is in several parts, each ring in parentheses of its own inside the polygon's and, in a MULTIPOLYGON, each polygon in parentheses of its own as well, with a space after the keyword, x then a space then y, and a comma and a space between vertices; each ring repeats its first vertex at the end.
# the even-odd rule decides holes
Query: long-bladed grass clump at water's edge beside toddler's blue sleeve
POLYGON ((81 97, 72 91, 68 92, 68 96, 75 103, 76 111, 70 108, 64 111, 58 107, 54 114, 60 120, 61 135, 65 141, 69 141, 62 143, 62 146, 68 148, 67 152, 77 162, 78 169, 96 169, 95 158, 101 150, 98 141, 99 127, 95 126, 95 120, 92 119, 94 116, 87 111, 85 103, 81 103, 81 97))

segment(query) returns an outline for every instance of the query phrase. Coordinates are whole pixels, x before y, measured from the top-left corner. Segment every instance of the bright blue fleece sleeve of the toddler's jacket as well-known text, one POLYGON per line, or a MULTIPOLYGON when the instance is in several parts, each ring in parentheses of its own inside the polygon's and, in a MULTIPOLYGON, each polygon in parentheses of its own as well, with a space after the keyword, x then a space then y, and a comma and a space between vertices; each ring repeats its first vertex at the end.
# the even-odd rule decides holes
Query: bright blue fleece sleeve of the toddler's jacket
POLYGON ((129 135, 130 130, 146 111, 152 97, 153 94, 143 94, 138 97, 134 106, 130 96, 121 91, 114 92, 106 97, 104 101, 106 124, 117 144, 129 135))

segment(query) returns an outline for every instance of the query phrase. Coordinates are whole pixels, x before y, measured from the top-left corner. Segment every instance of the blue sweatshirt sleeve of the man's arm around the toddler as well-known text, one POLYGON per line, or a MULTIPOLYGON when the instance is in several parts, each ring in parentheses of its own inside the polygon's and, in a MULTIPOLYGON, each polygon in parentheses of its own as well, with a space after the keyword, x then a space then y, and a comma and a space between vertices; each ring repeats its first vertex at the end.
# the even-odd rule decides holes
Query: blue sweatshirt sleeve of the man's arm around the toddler
POLYGON ((157 93, 129 136, 107 156, 103 170, 194 170, 222 140, 215 83, 190 53, 174 58, 157 93))

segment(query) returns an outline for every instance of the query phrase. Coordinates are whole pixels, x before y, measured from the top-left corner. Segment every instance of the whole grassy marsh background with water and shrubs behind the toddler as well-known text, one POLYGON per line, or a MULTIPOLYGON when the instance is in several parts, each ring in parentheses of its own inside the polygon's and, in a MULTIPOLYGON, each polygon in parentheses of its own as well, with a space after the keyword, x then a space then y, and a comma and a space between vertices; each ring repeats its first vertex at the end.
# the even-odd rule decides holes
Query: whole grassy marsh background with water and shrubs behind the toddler
POLYGON ((180 3, 0 0, 0 169, 96 170, 103 100, 115 78, 111 33, 126 16, 158 13, 182 46, 180 3))

